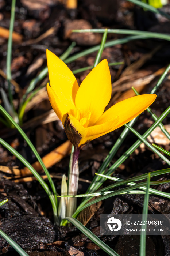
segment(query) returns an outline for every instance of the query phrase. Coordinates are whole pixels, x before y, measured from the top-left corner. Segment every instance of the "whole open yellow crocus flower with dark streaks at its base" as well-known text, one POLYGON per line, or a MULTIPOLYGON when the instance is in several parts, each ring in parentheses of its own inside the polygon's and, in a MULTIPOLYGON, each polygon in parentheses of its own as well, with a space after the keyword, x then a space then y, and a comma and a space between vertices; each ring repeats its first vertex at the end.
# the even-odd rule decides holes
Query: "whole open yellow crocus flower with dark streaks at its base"
POLYGON ((78 86, 67 65, 47 50, 50 85, 47 93, 52 108, 62 121, 66 135, 78 148, 120 126, 147 109, 155 94, 143 94, 118 102, 104 112, 112 84, 107 60, 102 60, 78 86))

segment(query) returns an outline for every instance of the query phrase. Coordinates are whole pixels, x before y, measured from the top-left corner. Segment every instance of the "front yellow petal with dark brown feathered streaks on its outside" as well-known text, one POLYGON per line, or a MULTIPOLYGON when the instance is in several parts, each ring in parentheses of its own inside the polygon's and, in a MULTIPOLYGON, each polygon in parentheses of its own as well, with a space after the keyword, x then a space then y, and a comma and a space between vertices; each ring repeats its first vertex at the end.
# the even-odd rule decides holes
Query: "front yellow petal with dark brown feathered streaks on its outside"
POLYGON ((62 124, 70 142, 72 142, 74 147, 78 147, 80 145, 80 141, 86 136, 86 129, 70 113, 66 113, 63 116, 62 124))

